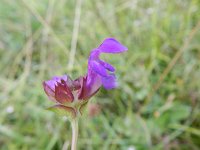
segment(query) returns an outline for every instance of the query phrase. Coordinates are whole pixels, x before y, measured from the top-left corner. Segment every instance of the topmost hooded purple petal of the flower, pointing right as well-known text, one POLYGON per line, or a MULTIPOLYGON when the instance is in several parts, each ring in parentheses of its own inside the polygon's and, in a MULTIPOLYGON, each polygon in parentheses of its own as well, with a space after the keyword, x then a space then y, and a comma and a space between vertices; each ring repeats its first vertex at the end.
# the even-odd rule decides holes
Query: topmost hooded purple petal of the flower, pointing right
POLYGON ((119 43, 114 38, 105 39, 98 49, 104 53, 121 53, 128 50, 127 47, 119 43))

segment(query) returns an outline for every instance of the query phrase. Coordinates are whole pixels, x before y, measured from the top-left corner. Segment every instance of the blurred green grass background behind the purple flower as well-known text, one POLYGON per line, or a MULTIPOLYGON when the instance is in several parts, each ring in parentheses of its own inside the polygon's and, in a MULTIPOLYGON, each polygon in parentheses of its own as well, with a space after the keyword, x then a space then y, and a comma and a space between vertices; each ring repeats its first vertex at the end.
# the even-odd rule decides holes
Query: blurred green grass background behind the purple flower
POLYGON ((91 99, 80 150, 200 149, 199 0, 1 0, 0 149, 65 150, 66 118, 42 81, 86 73, 90 50, 115 37, 129 48, 103 55, 118 89, 91 99))

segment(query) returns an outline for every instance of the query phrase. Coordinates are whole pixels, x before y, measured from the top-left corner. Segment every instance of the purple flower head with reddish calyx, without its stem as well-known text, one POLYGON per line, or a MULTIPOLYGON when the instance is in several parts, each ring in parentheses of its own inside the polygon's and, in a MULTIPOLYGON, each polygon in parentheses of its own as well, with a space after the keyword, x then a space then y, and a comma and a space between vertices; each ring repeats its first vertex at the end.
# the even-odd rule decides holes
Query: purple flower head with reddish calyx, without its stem
MULTIPOLYGON (((57 103, 54 108, 71 109, 77 102, 87 101, 101 86, 113 89, 117 86, 115 68, 99 58, 101 53, 122 53, 127 51, 114 38, 107 38, 103 43, 91 51, 88 60, 88 72, 76 80, 67 75, 53 77, 44 81, 43 86, 49 99, 57 103)), ((76 105, 77 106, 77 105, 76 105)))

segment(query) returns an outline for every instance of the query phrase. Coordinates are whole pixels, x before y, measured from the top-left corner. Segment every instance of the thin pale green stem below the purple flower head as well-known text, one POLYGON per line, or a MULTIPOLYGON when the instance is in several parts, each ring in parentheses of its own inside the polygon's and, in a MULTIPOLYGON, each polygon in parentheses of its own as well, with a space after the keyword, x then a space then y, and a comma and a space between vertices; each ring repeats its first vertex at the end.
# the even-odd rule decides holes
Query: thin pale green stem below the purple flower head
POLYGON ((74 118, 71 121, 72 126, 72 145, 71 150, 76 150, 77 139, 78 139, 78 118, 74 118))

